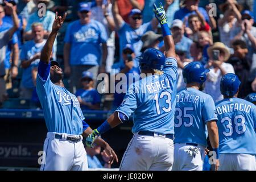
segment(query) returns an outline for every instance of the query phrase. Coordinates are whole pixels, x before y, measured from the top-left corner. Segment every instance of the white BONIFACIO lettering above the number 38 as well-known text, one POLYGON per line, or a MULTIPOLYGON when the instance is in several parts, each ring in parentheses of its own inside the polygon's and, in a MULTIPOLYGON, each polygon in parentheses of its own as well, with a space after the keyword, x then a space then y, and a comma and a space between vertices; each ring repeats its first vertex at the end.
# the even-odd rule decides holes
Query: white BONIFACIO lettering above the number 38
POLYGON ((218 106, 216 107, 216 110, 218 114, 232 113, 233 111, 245 111, 246 113, 250 113, 251 106, 242 103, 235 103, 218 106))

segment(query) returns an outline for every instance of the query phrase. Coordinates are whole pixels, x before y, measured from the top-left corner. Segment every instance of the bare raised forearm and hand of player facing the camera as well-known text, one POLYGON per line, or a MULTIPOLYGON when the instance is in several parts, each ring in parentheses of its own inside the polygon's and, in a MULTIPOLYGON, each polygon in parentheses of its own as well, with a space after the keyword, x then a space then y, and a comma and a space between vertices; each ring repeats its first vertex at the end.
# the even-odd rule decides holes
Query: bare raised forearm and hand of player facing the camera
POLYGON ((52 24, 51 34, 49 34, 47 42, 44 45, 44 47, 42 49, 42 52, 41 52, 40 61, 43 61, 43 63, 45 63, 45 64, 49 64, 49 59, 51 57, 53 43, 54 43, 54 41, 56 39, 58 31, 60 30, 60 28, 63 25, 63 22, 64 22, 64 20, 66 18, 66 15, 67 15, 67 13, 65 13, 64 16, 61 17, 61 16, 58 16, 57 12, 55 14, 55 20, 54 20, 54 22, 52 24))

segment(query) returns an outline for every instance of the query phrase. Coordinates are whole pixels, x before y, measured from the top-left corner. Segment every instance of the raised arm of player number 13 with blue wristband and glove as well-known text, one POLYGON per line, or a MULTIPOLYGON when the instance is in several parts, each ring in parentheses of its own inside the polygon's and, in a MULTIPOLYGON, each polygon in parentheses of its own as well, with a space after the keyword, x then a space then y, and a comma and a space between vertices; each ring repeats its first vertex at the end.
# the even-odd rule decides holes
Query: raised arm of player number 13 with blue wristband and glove
POLYGON ((166 11, 164 11, 162 3, 160 3, 160 7, 154 4, 154 13, 162 28, 166 57, 176 57, 174 39, 168 27, 166 11))

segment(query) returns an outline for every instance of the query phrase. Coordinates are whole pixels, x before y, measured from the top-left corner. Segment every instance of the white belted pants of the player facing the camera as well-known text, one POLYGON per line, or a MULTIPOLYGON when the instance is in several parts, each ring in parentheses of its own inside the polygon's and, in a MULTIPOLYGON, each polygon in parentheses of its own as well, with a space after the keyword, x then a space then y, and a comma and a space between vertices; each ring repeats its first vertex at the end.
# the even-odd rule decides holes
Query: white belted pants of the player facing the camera
POLYGON ((82 136, 79 142, 67 140, 68 135, 62 134, 62 139, 56 139, 55 133, 47 133, 44 140, 43 160, 41 171, 85 171, 88 162, 82 136))

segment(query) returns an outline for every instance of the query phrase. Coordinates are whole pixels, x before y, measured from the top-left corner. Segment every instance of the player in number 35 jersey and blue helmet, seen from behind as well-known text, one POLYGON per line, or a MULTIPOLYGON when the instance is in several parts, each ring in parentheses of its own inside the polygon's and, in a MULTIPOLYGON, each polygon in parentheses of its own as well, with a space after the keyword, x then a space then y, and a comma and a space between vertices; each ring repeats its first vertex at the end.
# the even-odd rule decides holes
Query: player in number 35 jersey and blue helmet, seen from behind
MULTIPOLYGON (((185 89, 177 93, 173 171, 203 171, 207 131, 213 151, 218 151, 217 116, 213 98, 201 92, 207 80, 203 64, 198 61, 183 69, 185 89)), ((216 170, 218 169, 216 160, 216 170)))

